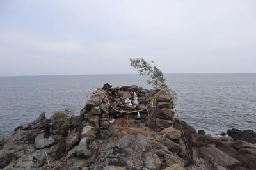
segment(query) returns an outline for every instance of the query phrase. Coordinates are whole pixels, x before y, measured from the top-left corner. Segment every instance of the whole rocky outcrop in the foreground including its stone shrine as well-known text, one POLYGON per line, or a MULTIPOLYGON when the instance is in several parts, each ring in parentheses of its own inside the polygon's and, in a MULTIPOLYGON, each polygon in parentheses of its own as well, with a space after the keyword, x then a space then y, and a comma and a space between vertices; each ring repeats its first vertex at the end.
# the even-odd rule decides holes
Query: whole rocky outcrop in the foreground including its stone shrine
POLYGON ((0 169, 49 169, 48 161, 51 169, 256 169, 255 132, 233 129, 234 141, 216 138, 196 133, 174 114, 173 97, 104 84, 81 109, 77 125, 58 127, 43 112, 15 128, 0 141, 0 169))

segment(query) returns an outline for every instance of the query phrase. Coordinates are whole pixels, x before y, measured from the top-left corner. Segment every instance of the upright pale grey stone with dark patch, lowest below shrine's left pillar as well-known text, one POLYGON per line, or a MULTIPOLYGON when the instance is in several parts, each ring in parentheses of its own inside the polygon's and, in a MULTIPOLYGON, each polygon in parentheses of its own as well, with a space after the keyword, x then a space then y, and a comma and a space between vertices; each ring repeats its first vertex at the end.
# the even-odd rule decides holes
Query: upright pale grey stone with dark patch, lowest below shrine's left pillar
POLYGON ((91 142, 88 137, 81 139, 78 147, 77 147, 77 157, 88 158, 92 155, 95 150, 96 143, 91 142))

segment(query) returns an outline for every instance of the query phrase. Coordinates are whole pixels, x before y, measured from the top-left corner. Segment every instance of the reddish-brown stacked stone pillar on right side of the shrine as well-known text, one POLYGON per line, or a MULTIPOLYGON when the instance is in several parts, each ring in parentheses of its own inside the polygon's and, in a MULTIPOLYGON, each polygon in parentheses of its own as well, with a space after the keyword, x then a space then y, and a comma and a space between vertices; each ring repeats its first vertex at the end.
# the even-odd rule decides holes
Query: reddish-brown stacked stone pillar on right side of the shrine
POLYGON ((159 130, 173 127, 174 114, 173 111, 173 97, 170 95, 159 95, 157 98, 156 112, 154 114, 156 125, 159 130))

